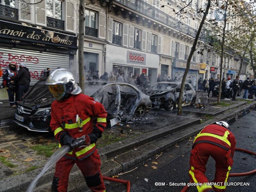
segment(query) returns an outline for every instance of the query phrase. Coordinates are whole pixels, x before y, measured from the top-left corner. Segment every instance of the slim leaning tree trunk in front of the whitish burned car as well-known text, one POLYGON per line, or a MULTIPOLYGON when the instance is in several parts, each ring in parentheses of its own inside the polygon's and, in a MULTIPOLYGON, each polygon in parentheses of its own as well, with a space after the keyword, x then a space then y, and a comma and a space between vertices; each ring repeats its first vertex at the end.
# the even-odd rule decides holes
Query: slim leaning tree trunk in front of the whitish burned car
POLYGON ((196 44, 197 44, 197 41, 198 41, 198 38, 199 38, 199 35, 201 33, 201 30, 203 28, 203 25, 204 25, 204 20, 208 14, 208 11, 209 11, 209 8, 210 8, 210 5, 211 5, 211 0, 208 0, 208 4, 207 4, 207 7, 206 7, 206 10, 204 12, 204 16, 203 16, 203 19, 201 20, 201 23, 200 23, 200 26, 198 28, 198 31, 196 33, 196 38, 194 40, 194 44, 191 48, 191 51, 189 53, 189 56, 188 56, 188 61, 187 61, 187 67, 185 69, 185 72, 184 72, 184 75, 183 75, 183 78, 182 78, 182 82, 181 82, 181 88, 180 88, 180 95, 179 95, 179 101, 178 101, 178 115, 182 115, 182 98, 183 98, 183 91, 184 91, 184 86, 185 86, 185 81, 186 81, 186 78, 187 78, 187 74, 188 74, 188 70, 190 68, 190 61, 193 57, 193 54, 196 50, 196 44))

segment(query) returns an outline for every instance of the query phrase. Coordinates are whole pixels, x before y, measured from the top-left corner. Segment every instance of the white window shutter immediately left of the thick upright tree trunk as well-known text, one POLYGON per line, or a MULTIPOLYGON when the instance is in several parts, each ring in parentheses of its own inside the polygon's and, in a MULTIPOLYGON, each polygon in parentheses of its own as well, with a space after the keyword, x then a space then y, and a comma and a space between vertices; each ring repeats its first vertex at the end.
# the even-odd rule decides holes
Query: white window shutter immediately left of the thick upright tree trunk
MULTIPOLYGON (((79 20, 78 20, 79 21, 79 20)), ((75 33, 74 24, 75 24, 75 10, 74 4, 70 1, 66 1, 66 31, 75 33)))

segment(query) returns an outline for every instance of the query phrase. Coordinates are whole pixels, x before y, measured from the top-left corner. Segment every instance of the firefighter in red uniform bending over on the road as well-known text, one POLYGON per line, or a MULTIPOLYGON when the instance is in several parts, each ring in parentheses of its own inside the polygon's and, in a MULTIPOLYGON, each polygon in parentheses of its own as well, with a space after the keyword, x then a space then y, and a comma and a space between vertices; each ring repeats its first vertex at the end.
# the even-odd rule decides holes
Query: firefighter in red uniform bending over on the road
POLYGON ((202 183, 202 186, 196 186, 199 192, 225 191, 224 183, 228 182, 235 148, 235 136, 225 121, 207 125, 197 134, 190 154, 189 177, 195 183, 202 183), (213 186, 206 185, 209 180, 204 174, 209 156, 216 162, 215 178, 212 181, 216 185, 213 186))

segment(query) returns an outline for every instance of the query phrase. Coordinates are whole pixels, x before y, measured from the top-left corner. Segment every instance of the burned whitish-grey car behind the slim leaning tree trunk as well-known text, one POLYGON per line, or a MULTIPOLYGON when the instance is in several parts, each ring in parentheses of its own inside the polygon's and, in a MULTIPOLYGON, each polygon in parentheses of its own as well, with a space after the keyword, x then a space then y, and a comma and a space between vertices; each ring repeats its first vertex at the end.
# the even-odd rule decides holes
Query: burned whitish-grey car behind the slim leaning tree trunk
MULTIPOLYGON (((180 95, 181 83, 177 82, 158 82, 154 84, 145 93, 150 96, 152 101, 152 108, 164 108, 165 110, 172 110, 178 106, 178 99, 180 95)), ((196 92, 192 85, 185 83, 182 106, 195 105, 196 92)))

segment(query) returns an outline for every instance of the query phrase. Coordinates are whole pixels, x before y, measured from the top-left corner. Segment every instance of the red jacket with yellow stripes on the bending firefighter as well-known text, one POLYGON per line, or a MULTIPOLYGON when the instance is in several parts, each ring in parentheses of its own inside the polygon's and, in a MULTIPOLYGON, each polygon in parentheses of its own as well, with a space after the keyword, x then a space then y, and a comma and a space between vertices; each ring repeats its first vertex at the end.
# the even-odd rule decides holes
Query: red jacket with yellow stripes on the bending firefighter
POLYGON ((212 143, 224 148, 228 152, 227 158, 233 158, 236 148, 236 139, 233 133, 217 124, 205 126, 204 129, 196 135, 193 145, 196 145, 197 143, 212 143))

